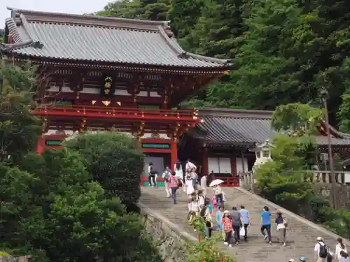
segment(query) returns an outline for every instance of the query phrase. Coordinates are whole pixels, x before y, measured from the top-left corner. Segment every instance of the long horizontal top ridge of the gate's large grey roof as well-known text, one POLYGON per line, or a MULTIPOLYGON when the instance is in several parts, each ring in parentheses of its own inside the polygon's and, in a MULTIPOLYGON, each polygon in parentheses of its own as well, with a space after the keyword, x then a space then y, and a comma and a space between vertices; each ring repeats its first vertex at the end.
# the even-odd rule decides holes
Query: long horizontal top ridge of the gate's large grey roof
POLYGON ((118 24, 128 24, 129 27, 134 29, 144 29, 147 27, 149 30, 158 30, 158 26, 167 27, 169 21, 153 21, 153 20, 137 20, 122 17, 105 17, 99 15, 77 15, 68 13, 54 13, 43 12, 26 9, 18 9, 7 7, 8 10, 13 12, 13 17, 16 14, 22 14, 27 17, 27 20, 36 22, 58 22, 58 23, 72 23, 72 24, 92 24, 107 27, 118 27, 118 24))

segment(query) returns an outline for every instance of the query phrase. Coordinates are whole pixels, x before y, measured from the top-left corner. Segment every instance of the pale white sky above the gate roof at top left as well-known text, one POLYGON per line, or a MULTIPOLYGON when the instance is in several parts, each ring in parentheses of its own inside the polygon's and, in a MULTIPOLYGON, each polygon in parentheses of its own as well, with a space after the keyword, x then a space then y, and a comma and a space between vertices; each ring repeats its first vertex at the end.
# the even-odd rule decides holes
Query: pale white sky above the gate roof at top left
POLYGON ((18 9, 83 14, 102 10, 111 0, 0 0, 0 28, 4 28, 5 19, 10 17, 6 6, 18 9))

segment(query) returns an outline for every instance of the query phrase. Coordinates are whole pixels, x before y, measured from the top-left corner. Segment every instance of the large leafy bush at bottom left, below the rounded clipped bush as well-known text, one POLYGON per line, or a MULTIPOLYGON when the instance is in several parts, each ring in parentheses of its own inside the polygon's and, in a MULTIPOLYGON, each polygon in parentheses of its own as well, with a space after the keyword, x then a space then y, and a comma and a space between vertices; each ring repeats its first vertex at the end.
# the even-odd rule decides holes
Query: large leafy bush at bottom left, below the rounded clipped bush
MULTIPOLYGON (((139 215, 127 213, 119 198, 106 198, 100 184, 91 181, 80 154, 48 150, 42 156, 27 156, 22 167, 34 159, 42 163, 41 168, 34 166, 35 180, 27 185, 22 178, 25 184, 18 183, 27 199, 20 200, 31 203, 31 213, 18 221, 18 236, 29 252, 42 250, 50 261, 161 261, 144 237, 139 215)), ((21 208, 21 203, 14 208, 21 208)))

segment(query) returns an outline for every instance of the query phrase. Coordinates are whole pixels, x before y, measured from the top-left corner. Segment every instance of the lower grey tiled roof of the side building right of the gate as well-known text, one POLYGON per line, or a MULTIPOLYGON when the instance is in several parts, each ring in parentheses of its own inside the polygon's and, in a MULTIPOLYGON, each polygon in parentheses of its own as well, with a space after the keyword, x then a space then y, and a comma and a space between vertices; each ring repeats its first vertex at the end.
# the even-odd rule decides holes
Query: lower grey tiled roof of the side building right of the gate
MULTIPOLYGON (((189 135, 217 145, 240 145, 263 143, 273 139, 272 111, 241 110, 225 108, 202 108, 199 117, 204 121, 197 124, 189 135)), ((348 134, 340 133, 331 127, 332 145, 350 145, 348 134)), ((317 136, 318 145, 327 145, 326 136, 317 136)))

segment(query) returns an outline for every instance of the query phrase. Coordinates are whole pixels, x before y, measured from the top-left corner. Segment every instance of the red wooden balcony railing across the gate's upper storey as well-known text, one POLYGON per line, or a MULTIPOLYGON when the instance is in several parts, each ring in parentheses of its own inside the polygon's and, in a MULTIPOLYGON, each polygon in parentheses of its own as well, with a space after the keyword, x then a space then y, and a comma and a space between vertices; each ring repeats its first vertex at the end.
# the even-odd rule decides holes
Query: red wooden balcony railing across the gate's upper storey
POLYGON ((33 111, 39 116, 108 117, 123 119, 174 120, 200 122, 194 110, 110 108, 91 105, 40 105, 33 111))

